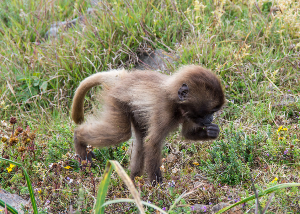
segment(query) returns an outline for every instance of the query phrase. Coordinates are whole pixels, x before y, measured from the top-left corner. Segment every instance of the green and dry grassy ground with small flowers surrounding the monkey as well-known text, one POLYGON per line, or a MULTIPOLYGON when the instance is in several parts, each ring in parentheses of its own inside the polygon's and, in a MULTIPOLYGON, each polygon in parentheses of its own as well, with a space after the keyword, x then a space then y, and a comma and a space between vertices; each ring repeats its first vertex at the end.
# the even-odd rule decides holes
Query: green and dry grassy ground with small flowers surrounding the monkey
MULTIPOLYGON (((165 183, 160 188, 149 187, 144 177, 134 181, 143 203, 157 201, 157 207, 170 210, 180 199, 172 212, 196 213, 190 208, 195 203, 233 204, 253 195, 251 179, 259 190, 300 182, 299 2, 201 2, 1 3, 0 120, 9 123, 13 116, 18 122, 1 122, 0 154, 22 162, 39 213, 70 213, 70 205, 89 213, 107 160, 128 168, 130 141, 95 150, 94 166, 79 170, 73 153, 72 96, 91 73, 134 68, 137 57, 153 49, 179 55, 174 65, 168 65, 171 72, 180 64, 200 64, 217 73, 227 104, 217 113, 222 132, 217 141, 188 142, 177 132, 166 139, 164 158, 179 151, 179 165, 163 162, 165 183), (95 10, 88 14, 88 7, 95 10), (85 26, 76 24, 56 39, 45 39, 50 24, 79 16, 84 16, 85 26), (18 126, 24 131, 16 133, 18 126), (174 187, 168 184, 172 180, 174 187), (193 189, 195 185, 200 186, 193 189), (180 198, 184 191, 193 193, 180 198)), ((86 112, 93 106, 95 91, 86 97, 86 112)), ((0 162, 1 188, 29 197, 21 169, 9 173, 7 167, 0 162)), ((299 196, 298 187, 277 190, 267 213, 295 213, 300 210, 299 196)), ((122 179, 113 173, 106 199, 120 198, 132 201, 122 179)), ((262 207, 268 199, 260 198, 262 207)), ((255 212, 254 200, 239 206, 255 212)), ((144 208, 154 212, 153 207, 144 208)), ((107 204, 105 212, 138 209, 128 202, 107 204)))

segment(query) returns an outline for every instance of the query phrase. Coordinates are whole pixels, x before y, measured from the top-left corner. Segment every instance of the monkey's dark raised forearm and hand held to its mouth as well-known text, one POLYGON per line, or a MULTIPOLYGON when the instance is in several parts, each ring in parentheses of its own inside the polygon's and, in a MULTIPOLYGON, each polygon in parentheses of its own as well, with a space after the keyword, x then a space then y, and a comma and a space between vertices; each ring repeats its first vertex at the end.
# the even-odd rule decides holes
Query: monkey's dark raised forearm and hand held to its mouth
POLYGON ((209 123, 206 126, 199 126, 191 122, 182 125, 182 135, 189 140, 214 139, 218 137, 219 132, 219 126, 214 123, 209 123))

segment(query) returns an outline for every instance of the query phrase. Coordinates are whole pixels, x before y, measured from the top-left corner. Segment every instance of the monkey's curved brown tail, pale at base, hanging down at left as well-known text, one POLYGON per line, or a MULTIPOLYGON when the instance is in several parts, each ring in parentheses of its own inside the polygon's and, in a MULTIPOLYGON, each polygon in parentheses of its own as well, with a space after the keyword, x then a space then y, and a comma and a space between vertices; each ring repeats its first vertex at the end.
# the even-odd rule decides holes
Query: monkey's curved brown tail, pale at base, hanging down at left
POLYGON ((80 124, 84 120, 83 102, 85 94, 88 92, 88 90, 101 84, 112 86, 118 79, 122 77, 122 74, 124 73, 126 73, 124 69, 99 72, 85 78, 79 84, 75 91, 72 104, 72 118, 76 124, 80 124))

